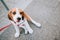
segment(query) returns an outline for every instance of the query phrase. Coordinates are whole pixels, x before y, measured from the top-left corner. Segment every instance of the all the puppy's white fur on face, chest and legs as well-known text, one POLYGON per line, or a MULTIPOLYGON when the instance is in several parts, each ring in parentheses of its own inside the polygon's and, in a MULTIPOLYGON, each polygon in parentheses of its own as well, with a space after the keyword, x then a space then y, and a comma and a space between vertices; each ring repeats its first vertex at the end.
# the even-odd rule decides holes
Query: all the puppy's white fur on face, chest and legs
MULTIPOLYGON (((19 14, 18 9, 16 8, 16 15, 13 17, 13 20, 16 22, 18 17, 21 18, 22 16, 19 14)), ((30 18, 30 19, 31 19, 31 22, 34 23, 36 26, 38 26, 38 27, 41 26, 40 23, 37 23, 32 18, 30 18)), ((31 27, 29 26, 29 24, 28 24, 28 22, 27 22, 27 20, 25 18, 24 18, 24 21, 23 20, 20 20, 20 22, 16 22, 16 23, 14 23, 13 21, 11 21, 11 23, 14 25, 14 28, 16 30, 15 37, 19 37, 19 35, 20 35, 19 27, 22 27, 25 30, 25 34, 27 34, 28 32, 30 34, 33 33, 33 30, 31 29, 31 27), (22 23, 22 24, 20 24, 20 23, 22 23), (19 27, 17 26, 18 24, 20 24, 19 27), (23 24, 25 26, 22 26, 23 24)))

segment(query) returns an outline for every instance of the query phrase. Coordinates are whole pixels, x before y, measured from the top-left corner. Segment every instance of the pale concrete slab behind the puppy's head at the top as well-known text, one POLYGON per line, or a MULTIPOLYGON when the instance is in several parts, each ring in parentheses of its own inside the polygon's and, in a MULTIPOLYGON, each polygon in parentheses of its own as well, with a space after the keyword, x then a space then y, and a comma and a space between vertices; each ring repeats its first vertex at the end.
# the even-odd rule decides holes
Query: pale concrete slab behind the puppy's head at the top
POLYGON ((25 9, 31 2, 32 0, 4 0, 9 9, 11 8, 21 8, 25 9))

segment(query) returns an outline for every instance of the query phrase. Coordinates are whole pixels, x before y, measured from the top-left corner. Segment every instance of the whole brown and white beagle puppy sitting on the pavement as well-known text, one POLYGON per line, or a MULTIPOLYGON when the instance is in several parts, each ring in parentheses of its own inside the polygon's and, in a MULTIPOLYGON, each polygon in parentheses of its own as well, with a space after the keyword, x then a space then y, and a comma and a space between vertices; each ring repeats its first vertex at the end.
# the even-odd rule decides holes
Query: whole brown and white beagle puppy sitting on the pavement
POLYGON ((28 21, 31 21, 37 27, 41 27, 40 23, 37 23, 36 21, 34 21, 22 9, 18 9, 18 8, 11 9, 8 12, 8 18, 9 18, 10 22, 14 25, 14 28, 16 30, 15 37, 19 37, 19 35, 20 35, 19 27, 21 27, 21 28, 23 28, 25 30, 25 34, 27 34, 28 32, 30 34, 33 33, 33 30, 29 26, 28 21))

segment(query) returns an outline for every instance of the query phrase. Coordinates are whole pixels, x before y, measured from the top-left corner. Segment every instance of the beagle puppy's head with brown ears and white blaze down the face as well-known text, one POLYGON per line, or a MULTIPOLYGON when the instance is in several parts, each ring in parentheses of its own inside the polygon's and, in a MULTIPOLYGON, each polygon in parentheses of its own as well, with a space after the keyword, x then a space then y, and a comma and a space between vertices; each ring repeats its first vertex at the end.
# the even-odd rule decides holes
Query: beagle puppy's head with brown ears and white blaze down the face
POLYGON ((8 12, 8 18, 9 20, 20 22, 21 20, 24 20, 24 12, 22 9, 13 8, 8 12))

